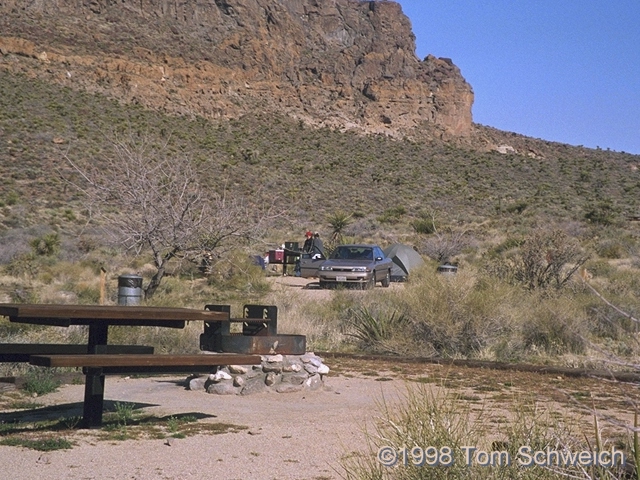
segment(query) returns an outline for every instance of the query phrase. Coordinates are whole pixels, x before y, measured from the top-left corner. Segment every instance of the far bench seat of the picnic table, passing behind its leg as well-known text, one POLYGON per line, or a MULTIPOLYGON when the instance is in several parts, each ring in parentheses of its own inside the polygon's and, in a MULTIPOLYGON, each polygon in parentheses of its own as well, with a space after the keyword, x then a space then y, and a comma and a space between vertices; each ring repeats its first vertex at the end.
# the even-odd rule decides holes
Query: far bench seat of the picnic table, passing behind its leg
MULTIPOLYGON (((104 345, 105 354, 151 354, 153 347, 146 345, 104 345)), ((31 355, 82 355, 89 353, 85 345, 62 343, 0 343, 0 362, 28 362, 31 355)))

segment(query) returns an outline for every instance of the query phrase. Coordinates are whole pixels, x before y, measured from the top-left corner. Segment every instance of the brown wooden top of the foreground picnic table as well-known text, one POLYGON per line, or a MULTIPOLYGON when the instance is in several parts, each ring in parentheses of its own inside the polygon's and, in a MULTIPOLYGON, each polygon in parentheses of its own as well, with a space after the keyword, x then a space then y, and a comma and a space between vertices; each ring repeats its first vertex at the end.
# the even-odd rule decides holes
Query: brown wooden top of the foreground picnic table
POLYGON ((193 308, 140 307, 122 305, 58 305, 0 303, 0 315, 12 322, 42 325, 153 325, 179 326, 186 321, 217 322, 229 314, 193 308))

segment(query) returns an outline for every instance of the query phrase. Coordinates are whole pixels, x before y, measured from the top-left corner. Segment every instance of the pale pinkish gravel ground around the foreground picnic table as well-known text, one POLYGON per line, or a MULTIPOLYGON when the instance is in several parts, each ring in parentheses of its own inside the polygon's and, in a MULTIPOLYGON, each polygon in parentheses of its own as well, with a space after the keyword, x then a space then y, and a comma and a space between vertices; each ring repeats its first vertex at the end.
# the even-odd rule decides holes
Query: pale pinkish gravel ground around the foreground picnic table
MULTIPOLYGON (((38 452, 0 446, 2 478, 31 479, 337 479, 340 459, 366 447, 376 401, 399 392, 395 382, 329 377, 324 390, 219 396, 188 391, 184 378, 109 377, 105 399, 145 404, 144 413, 195 413, 246 429, 175 439, 105 441, 74 437, 70 450, 38 452), (10 462, 7 460, 11 459, 10 462)), ((80 415, 82 385, 67 385, 39 399, 80 415)))

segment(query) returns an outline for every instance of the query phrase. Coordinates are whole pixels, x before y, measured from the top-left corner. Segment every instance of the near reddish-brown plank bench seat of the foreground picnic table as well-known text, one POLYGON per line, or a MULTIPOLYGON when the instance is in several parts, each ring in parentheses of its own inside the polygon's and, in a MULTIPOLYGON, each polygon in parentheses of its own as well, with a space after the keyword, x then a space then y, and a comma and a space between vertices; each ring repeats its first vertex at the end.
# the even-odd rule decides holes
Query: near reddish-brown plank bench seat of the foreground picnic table
POLYGON ((32 355, 29 363, 41 367, 99 369, 103 375, 120 373, 211 372, 221 365, 259 365, 260 355, 32 355))

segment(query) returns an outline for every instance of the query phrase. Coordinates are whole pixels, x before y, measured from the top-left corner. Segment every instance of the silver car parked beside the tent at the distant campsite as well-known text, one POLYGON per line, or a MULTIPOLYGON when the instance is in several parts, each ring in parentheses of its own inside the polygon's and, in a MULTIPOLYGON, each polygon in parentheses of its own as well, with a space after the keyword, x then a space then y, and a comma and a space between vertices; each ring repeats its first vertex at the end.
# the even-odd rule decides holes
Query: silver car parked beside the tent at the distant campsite
POLYGON ((376 282, 388 287, 392 264, 377 245, 339 245, 318 268, 320 288, 351 284, 368 289, 376 282))

